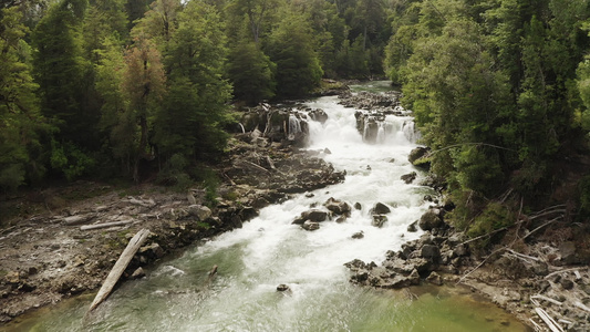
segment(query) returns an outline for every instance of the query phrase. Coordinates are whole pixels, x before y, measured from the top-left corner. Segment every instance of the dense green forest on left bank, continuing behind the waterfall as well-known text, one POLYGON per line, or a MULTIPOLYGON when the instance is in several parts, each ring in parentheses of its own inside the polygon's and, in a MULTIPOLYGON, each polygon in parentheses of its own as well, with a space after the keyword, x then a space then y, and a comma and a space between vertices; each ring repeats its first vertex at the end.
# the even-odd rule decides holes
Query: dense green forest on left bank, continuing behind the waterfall
POLYGON ((322 77, 383 76, 374 0, 0 2, 0 188, 48 178, 198 177, 232 105, 299 97, 322 77))

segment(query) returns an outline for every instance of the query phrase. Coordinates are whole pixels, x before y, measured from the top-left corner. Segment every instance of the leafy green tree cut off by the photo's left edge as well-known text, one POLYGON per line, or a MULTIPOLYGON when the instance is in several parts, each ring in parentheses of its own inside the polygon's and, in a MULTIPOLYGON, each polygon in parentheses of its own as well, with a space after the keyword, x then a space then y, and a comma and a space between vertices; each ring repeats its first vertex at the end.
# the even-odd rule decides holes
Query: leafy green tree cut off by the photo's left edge
POLYGON ((49 126, 39 112, 22 13, 17 7, 0 13, 0 188, 13 190, 44 173, 40 134, 49 126))

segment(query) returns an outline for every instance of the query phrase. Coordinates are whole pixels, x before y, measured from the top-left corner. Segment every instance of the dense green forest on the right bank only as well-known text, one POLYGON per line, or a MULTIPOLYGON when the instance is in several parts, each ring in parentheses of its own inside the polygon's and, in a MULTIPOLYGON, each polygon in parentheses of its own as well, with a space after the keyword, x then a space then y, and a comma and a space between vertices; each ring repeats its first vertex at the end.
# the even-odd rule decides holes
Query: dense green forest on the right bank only
POLYGON ((587 0, 396 2, 384 66, 456 226, 486 234, 568 201, 572 220, 588 219, 589 18, 587 0))

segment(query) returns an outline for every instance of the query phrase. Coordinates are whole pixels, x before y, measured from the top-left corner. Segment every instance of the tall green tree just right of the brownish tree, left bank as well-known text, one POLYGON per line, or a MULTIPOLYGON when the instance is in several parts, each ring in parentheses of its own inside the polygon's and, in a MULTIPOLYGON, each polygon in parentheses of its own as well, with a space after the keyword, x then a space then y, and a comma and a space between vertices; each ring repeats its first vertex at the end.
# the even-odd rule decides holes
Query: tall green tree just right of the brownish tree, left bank
POLYGON ((165 159, 174 154, 206 159, 226 143, 221 129, 231 87, 222 77, 227 59, 215 7, 189 1, 178 14, 166 64, 169 93, 157 113, 155 142, 165 159))

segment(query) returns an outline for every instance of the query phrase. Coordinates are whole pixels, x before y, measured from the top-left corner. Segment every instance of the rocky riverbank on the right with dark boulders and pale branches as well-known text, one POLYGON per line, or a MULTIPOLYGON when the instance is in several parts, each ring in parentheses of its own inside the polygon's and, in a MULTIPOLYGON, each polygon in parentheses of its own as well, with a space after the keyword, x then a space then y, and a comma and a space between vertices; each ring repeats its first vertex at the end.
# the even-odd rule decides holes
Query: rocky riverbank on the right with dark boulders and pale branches
POLYGON ((565 240, 566 226, 549 229, 563 217, 562 206, 544 210, 542 217, 521 215, 517 226, 484 237, 500 234, 503 240, 483 251, 480 239, 468 239, 446 222, 452 204, 425 199, 432 201, 429 210, 407 228, 420 228, 423 236, 389 251, 381 263, 348 262, 351 282, 383 289, 467 287, 538 331, 590 331, 590 270, 581 248, 565 240))

